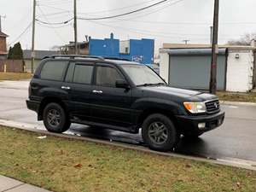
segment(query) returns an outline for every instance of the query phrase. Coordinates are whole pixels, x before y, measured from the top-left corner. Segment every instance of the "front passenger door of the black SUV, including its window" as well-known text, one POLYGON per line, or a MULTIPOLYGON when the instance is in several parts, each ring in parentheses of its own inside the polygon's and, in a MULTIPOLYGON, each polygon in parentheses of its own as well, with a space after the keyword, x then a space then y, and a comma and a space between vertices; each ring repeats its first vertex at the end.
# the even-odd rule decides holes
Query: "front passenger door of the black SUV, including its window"
POLYGON ((124 79, 117 68, 96 67, 91 114, 100 123, 129 126, 131 125, 131 90, 116 88, 117 79, 124 79))

